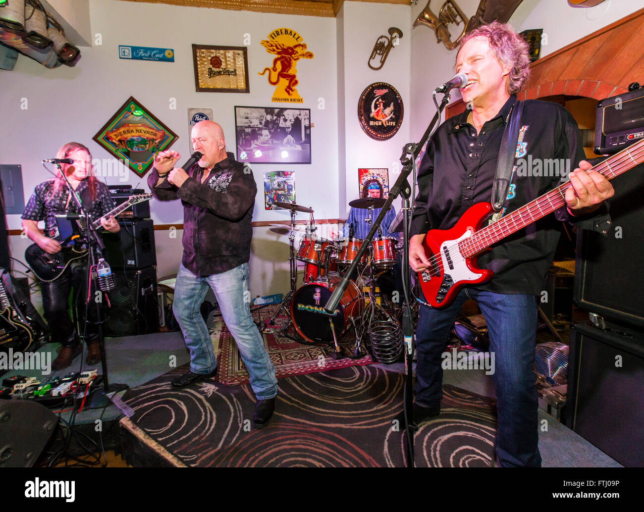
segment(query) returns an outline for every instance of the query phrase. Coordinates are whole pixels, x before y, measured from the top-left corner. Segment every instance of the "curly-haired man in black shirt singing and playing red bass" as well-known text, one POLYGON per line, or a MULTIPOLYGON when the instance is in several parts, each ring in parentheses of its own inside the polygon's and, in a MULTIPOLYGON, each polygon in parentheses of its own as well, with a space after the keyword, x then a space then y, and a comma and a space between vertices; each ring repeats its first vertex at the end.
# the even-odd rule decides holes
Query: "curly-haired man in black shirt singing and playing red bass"
MULTIPOLYGON (((439 256, 432 256, 430 261, 427 232, 452 229, 461 217, 469 222, 464 215, 469 207, 491 201, 504 129, 515 108, 516 93, 526 84, 529 64, 527 44, 508 25, 494 22, 462 39, 456 71, 468 77, 461 93, 469 108, 446 120, 428 142, 417 176, 419 194, 412 214, 412 270, 421 272, 419 276, 425 282, 431 282, 432 275, 444 276, 434 296, 424 298, 434 301, 434 307, 421 305, 420 309, 414 422, 419 424, 440 413, 441 354, 463 303, 475 299, 488 325, 489 350, 495 354, 492 378, 497 395, 496 452, 500 466, 541 465, 532 365, 538 301, 559 238, 556 220, 554 216, 544 217, 492 245, 491 251, 478 258, 478 267, 488 271, 484 274, 487 281, 465 284, 444 303, 442 294, 452 290, 451 283, 464 281, 462 276, 469 276, 471 269, 464 265, 463 254, 451 239, 452 243, 440 243, 439 256), (489 271, 494 273, 491 279, 489 271)), ((566 189, 565 198, 558 198, 562 206, 556 210, 556 218, 605 234, 609 217, 601 203, 614 190, 600 173, 586 172, 591 165, 583 160, 581 135, 573 117, 553 102, 527 100, 518 126, 516 153, 514 142, 507 146, 509 160, 514 157, 518 164, 518 159, 524 158, 544 164, 558 159, 568 162, 569 168, 577 168, 562 176, 561 172, 544 173, 543 168, 538 173, 526 173, 516 165, 507 194, 500 194, 504 200, 500 214, 509 216, 569 177, 572 186, 566 189)), ((477 225, 472 228, 478 229, 477 225)), ((477 254, 476 247, 468 254, 477 254)))

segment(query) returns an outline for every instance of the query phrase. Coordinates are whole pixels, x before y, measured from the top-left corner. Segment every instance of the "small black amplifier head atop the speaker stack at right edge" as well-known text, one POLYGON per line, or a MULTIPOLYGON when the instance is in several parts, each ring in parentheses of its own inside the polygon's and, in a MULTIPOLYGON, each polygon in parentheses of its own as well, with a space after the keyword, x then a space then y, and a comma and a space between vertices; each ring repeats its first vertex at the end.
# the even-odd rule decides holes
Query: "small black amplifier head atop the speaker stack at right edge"
POLYGON ((644 138, 644 88, 601 100, 595 117, 597 155, 612 155, 644 138))

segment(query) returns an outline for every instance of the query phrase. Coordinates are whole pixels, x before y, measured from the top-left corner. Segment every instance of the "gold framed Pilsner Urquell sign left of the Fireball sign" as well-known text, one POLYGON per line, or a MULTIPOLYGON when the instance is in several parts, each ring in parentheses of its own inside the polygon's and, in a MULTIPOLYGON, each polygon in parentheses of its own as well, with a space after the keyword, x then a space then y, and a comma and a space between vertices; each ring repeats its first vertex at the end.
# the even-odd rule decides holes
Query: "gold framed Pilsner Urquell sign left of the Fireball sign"
POLYGON ((248 54, 245 46, 193 44, 194 87, 198 93, 247 93, 248 54))

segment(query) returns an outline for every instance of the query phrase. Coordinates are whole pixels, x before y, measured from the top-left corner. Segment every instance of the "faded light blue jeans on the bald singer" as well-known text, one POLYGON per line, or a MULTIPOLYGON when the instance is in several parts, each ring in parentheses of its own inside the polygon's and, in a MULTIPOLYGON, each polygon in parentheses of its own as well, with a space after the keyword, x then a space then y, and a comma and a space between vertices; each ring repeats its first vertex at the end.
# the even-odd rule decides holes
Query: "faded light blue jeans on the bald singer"
POLYGON ((173 311, 184 334, 185 346, 190 350, 191 372, 209 374, 217 368, 213 342, 200 311, 208 287, 213 289, 223 321, 251 375, 255 396, 258 400, 275 397, 278 394, 275 367, 252 321, 248 263, 212 276, 195 276, 183 263, 179 267, 173 311))

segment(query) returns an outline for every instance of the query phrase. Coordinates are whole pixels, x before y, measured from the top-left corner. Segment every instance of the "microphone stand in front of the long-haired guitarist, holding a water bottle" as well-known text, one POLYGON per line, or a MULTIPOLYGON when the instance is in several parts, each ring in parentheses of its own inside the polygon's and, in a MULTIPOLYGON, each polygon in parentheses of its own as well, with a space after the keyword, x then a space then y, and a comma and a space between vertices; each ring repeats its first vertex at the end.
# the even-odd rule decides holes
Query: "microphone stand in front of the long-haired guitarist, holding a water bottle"
MULTIPOLYGON (((67 183, 67 186, 69 187, 71 198, 74 200, 81 214, 85 216, 84 228, 82 226, 82 222, 79 222, 79 225, 81 225, 81 228, 84 229, 85 231, 85 239, 88 244, 88 264, 87 264, 85 283, 88 283, 88 287, 90 288, 89 292, 91 295, 92 286, 90 285, 89 279, 88 279, 90 278, 90 276, 91 276, 91 281, 94 285, 94 288, 96 290, 100 290, 98 276, 97 274, 91 274, 91 267, 93 267, 95 263, 98 261, 96 257, 97 254, 102 255, 102 251, 104 251, 105 245, 100 239, 98 232, 94 229, 91 223, 90 214, 88 213, 88 211, 86 211, 86 209, 84 209, 80 196, 71 187, 70 180, 68 180, 67 176, 65 176, 65 174, 62 172, 60 164, 56 164, 56 166, 58 167, 62 178, 65 180, 65 182, 67 183)), ((100 292, 101 294, 104 293, 102 290, 100 290, 100 292)), ((105 338, 103 336, 103 319, 102 319, 102 308, 101 308, 102 301, 95 300, 94 302, 96 304, 96 312, 97 312, 97 328, 98 328, 98 334, 99 334, 99 348, 100 348, 100 365, 102 366, 102 370, 103 370, 103 387, 102 389, 97 390, 94 393, 94 396, 91 399, 91 408, 102 408, 109 404, 108 393, 118 392, 118 391, 127 389, 128 384, 110 385, 108 382, 108 366, 105 358, 105 338)), ((88 307, 86 305, 85 307, 86 314, 84 315, 84 321, 86 325, 88 323, 87 310, 88 310, 88 307)), ((78 316, 78 313, 77 313, 77 316, 78 316)), ((85 343, 84 337, 81 343, 85 343)))

